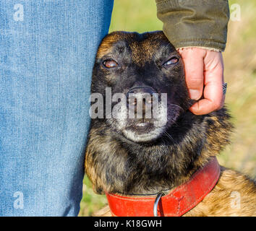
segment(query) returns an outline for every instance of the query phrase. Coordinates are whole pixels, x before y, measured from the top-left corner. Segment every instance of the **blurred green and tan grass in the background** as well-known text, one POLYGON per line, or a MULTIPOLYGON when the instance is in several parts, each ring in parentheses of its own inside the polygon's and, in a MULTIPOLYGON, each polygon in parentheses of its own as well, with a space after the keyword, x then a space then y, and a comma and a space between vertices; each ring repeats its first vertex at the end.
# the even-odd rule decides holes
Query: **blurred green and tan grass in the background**
MULTIPOLYGON (((241 21, 229 22, 228 42, 223 53, 225 81, 228 82, 226 105, 235 126, 231 145, 219 155, 221 165, 256 176, 256 1, 229 1, 241 6, 241 21)), ((231 11, 232 14, 232 11, 231 11)), ((161 30, 154 0, 116 0, 110 32, 161 30)), ((106 197, 93 193, 85 177, 80 216, 90 216, 106 205, 106 197)))

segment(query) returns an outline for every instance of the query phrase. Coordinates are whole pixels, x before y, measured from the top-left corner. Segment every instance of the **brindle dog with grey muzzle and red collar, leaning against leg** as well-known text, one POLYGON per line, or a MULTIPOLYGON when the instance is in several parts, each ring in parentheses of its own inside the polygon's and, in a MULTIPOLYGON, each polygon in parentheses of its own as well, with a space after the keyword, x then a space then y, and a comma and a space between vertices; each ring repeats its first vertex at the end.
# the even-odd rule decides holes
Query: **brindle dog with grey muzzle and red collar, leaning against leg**
POLYGON ((189 111, 195 101, 189 98, 182 57, 162 31, 106 35, 95 58, 91 93, 102 95, 97 102, 103 100, 104 107, 95 110, 96 100, 91 103, 101 116, 91 121, 85 172, 94 191, 107 195, 110 209, 101 215, 256 215, 255 181, 216 161, 233 128, 228 110, 189 111), (122 100, 107 101, 119 93, 127 99, 115 110, 122 100), (135 97, 130 100, 129 94, 135 97), (147 118, 146 105, 153 108, 153 95, 163 94, 165 100, 155 101, 155 118, 147 118), (144 95, 142 110, 136 110, 137 97, 144 95), (130 106, 140 116, 125 116, 130 106))

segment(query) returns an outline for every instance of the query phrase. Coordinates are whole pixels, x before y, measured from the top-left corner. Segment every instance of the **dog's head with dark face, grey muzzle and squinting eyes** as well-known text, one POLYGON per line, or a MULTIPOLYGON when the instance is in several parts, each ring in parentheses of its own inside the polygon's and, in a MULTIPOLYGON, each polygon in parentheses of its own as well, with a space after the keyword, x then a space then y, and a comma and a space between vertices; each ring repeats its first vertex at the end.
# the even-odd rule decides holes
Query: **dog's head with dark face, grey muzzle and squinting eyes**
POLYGON ((191 105, 182 58, 160 31, 107 35, 93 69, 92 93, 99 92, 98 117, 134 142, 158 139, 191 105))

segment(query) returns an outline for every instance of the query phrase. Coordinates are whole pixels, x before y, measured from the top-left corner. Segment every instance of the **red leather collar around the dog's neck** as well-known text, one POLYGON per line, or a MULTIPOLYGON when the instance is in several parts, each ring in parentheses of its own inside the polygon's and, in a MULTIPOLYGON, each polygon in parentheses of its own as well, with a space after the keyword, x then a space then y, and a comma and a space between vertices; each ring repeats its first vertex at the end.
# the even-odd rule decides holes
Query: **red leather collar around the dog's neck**
MULTIPOLYGON (((186 183, 174 188, 158 202, 158 216, 179 217, 195 207, 216 185, 221 173, 218 160, 213 157, 186 183)), ((155 197, 119 196, 106 193, 111 214, 115 217, 153 217, 155 197)))

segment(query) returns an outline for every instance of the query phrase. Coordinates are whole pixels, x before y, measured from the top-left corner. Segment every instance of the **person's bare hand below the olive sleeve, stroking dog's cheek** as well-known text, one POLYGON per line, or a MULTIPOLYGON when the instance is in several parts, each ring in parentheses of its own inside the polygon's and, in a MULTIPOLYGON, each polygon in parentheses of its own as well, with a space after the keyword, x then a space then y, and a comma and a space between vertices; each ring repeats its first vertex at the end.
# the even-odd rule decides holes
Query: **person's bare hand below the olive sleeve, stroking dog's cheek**
POLYGON ((208 114, 224 105, 223 58, 221 52, 203 48, 179 48, 185 67, 185 79, 192 100, 189 110, 195 115, 208 114))

